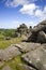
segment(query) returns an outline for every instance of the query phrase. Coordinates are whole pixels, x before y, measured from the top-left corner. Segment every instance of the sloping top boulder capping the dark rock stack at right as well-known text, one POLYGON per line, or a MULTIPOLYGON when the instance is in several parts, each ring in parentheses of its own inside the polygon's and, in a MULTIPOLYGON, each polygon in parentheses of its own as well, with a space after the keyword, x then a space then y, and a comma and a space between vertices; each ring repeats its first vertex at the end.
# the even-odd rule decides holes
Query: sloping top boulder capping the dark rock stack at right
POLYGON ((44 31, 46 32, 46 20, 43 20, 37 26, 33 28, 33 32, 44 31))

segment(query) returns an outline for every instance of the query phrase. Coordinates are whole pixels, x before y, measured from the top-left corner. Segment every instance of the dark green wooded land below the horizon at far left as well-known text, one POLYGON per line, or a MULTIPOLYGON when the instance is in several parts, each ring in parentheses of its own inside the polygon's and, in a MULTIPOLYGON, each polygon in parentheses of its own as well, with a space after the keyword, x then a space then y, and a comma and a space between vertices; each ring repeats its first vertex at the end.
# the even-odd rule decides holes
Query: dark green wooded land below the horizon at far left
POLYGON ((0 29, 0 34, 4 37, 15 38, 15 29, 0 29))

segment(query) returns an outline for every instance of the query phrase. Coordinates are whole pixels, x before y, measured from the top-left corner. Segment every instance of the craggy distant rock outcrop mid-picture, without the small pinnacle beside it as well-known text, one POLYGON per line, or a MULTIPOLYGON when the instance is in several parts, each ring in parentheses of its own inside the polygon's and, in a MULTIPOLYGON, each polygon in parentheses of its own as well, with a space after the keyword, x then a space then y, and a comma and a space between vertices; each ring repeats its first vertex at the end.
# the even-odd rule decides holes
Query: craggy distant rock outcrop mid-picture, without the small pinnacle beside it
POLYGON ((25 24, 21 24, 18 28, 17 31, 15 33, 15 36, 17 34, 17 37, 21 37, 22 34, 27 36, 28 32, 28 27, 25 24))

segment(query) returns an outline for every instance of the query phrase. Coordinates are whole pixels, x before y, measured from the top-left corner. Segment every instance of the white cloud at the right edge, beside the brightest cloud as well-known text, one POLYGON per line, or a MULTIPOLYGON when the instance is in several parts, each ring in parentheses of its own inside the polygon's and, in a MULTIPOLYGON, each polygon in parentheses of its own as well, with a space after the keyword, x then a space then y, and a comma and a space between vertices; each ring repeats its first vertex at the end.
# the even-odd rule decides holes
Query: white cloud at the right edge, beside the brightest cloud
POLYGON ((35 16, 39 17, 40 20, 46 19, 46 6, 44 8, 43 11, 41 9, 36 10, 35 11, 35 16))

